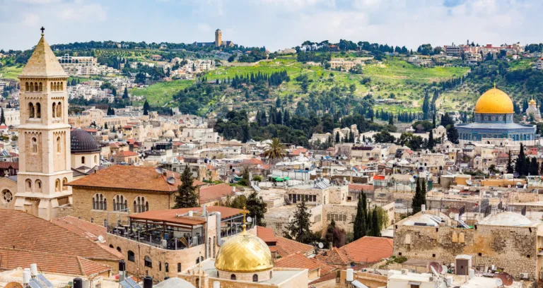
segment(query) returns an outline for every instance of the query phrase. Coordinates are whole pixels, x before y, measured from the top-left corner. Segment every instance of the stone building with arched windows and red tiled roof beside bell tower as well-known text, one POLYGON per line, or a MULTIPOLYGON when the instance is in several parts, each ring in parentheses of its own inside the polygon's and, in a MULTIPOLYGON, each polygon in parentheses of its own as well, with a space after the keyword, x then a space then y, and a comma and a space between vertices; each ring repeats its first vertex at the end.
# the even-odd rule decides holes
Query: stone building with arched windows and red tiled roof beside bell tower
MULTIPOLYGON (((194 181, 196 186, 202 184, 194 181)), ((124 223, 129 212, 173 208, 177 185, 177 173, 164 170, 158 174, 154 167, 114 165, 68 184, 74 192, 71 215, 106 225, 117 220, 124 223)))

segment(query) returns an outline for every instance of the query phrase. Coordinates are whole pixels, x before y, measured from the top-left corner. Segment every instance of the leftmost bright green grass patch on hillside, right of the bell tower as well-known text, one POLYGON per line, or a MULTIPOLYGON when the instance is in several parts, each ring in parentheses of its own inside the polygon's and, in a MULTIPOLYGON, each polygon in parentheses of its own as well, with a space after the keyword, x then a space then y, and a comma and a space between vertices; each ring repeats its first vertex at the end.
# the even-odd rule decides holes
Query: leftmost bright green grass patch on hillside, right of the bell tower
POLYGON ((173 95, 179 90, 185 89, 194 83, 193 80, 174 80, 160 82, 147 88, 132 89, 132 95, 145 96, 151 106, 163 106, 173 100, 173 95))

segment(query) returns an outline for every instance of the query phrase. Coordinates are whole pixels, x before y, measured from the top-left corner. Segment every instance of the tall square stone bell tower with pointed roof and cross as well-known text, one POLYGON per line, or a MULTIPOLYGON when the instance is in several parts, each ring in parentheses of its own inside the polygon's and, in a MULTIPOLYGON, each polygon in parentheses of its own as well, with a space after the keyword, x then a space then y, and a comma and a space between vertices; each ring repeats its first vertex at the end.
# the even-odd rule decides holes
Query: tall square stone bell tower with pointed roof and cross
POLYGON ((51 220, 60 205, 71 203, 68 75, 42 37, 21 80, 19 172, 15 209, 51 220))

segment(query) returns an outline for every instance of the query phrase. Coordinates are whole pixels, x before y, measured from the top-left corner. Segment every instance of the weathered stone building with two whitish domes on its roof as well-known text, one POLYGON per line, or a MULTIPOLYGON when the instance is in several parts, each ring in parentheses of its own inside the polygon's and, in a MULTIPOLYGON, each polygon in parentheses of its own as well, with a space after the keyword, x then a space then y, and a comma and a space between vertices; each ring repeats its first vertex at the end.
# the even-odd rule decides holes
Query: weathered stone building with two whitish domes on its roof
POLYGON ((539 280, 543 273, 543 225, 515 212, 501 212, 480 220, 473 228, 442 213, 419 212, 394 225, 394 255, 408 259, 456 263, 457 256, 472 258, 467 269, 487 271, 492 265, 514 277, 527 273, 539 280))

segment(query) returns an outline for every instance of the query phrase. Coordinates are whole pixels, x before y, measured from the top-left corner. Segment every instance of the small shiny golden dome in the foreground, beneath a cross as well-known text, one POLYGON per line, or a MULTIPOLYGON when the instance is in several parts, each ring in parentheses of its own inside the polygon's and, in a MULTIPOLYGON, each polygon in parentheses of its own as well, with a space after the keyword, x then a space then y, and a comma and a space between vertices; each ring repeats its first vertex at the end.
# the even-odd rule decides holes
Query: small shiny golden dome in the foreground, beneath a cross
POLYGON ((274 268, 271 252, 262 239, 242 232, 218 249, 215 268, 228 272, 259 272, 274 268))

